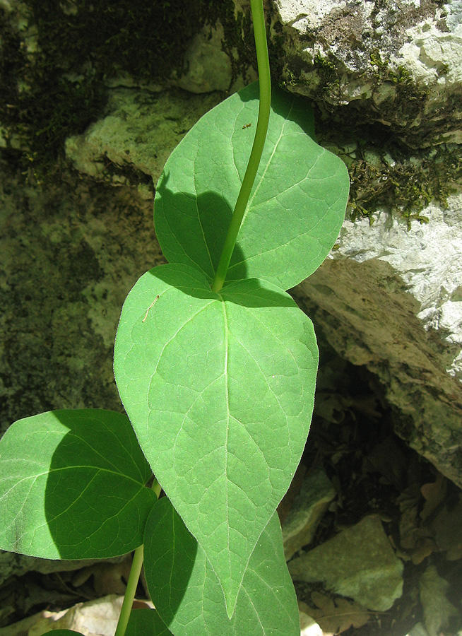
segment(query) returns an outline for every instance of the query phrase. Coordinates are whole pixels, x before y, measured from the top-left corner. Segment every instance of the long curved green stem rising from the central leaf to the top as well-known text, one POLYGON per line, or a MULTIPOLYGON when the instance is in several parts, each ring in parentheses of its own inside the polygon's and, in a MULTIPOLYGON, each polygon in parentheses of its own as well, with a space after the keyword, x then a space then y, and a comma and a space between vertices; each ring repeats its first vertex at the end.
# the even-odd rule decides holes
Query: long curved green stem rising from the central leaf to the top
POLYGON ((263 0, 250 0, 252 18, 254 21, 254 36, 256 47, 256 61, 259 69, 259 119, 256 124, 254 145, 252 146, 249 163, 242 180, 241 189, 232 213, 230 227, 227 230, 225 245, 218 262, 215 278, 211 285, 212 291, 219 292, 225 282, 227 269, 235 249, 237 234, 241 227, 242 219, 249 202, 249 196, 254 185, 256 171, 259 169, 263 146, 265 145, 266 131, 271 109, 271 76, 268 59, 268 45, 266 43, 265 16, 263 14, 263 0))

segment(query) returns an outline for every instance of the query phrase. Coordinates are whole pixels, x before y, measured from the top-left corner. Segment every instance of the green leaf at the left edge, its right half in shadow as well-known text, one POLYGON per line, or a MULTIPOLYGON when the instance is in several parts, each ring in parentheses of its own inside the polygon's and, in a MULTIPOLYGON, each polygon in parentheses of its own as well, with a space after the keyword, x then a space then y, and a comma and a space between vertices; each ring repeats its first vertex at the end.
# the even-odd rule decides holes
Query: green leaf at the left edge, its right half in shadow
POLYGON ((129 419, 83 409, 18 420, 0 441, 0 548, 108 558, 143 543, 156 500, 129 419))

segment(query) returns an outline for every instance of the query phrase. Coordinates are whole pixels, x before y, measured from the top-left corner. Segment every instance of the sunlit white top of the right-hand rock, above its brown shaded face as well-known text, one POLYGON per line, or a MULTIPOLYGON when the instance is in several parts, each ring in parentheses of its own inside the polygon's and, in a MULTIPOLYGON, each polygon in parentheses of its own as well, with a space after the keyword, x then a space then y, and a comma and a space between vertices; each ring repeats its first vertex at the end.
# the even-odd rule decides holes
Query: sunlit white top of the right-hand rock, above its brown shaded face
POLYGON ((372 225, 366 219, 346 221, 331 257, 389 263, 419 302, 424 329, 442 331, 454 345, 446 371, 462 382, 462 194, 450 196, 446 209, 432 204, 422 214, 429 223, 410 229, 405 219, 380 212, 372 225))

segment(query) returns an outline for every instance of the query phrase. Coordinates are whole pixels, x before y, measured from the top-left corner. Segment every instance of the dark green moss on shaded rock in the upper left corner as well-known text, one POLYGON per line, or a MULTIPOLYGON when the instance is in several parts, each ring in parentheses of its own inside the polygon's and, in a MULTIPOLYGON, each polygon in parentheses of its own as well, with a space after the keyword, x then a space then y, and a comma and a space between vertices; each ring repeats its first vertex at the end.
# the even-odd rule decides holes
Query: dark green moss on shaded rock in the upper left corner
MULTIPOLYGON (((216 3, 215 3, 216 4, 216 3)), ((25 168, 54 170, 64 139, 81 133, 105 104, 105 78, 129 73, 159 81, 182 71, 189 39, 216 10, 211 0, 25 0, 19 33, 0 8, 0 122, 28 148, 25 168), (23 28, 23 25, 21 25, 23 28), (35 50, 27 50, 31 36, 35 50)))

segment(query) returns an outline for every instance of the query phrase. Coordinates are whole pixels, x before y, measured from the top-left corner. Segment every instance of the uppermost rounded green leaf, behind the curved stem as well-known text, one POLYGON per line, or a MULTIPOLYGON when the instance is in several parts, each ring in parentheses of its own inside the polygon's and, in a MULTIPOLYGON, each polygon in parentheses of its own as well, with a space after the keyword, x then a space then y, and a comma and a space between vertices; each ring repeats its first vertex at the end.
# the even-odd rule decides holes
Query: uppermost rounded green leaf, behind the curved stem
MULTIPOLYGON (((170 263, 199 267, 210 281, 247 167, 258 97, 254 83, 205 114, 174 149, 158 183, 154 217, 162 252, 170 263)), ((268 136, 227 281, 263 278, 289 289, 331 250, 350 179, 342 160, 312 136, 306 100, 273 91, 268 136)))

